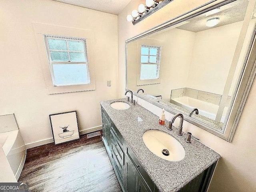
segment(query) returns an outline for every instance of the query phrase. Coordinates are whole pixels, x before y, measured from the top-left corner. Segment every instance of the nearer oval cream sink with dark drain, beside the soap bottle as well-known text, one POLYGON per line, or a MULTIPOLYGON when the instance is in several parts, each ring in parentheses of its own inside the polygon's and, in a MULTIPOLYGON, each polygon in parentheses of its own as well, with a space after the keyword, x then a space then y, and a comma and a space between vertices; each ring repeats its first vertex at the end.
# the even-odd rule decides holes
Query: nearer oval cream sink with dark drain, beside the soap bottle
POLYGON ((174 137, 158 130, 146 131, 142 136, 146 147, 158 157, 168 161, 180 161, 185 157, 183 146, 174 137), (169 153, 168 156, 164 155, 169 153), (166 152, 166 150, 168 150, 166 152))

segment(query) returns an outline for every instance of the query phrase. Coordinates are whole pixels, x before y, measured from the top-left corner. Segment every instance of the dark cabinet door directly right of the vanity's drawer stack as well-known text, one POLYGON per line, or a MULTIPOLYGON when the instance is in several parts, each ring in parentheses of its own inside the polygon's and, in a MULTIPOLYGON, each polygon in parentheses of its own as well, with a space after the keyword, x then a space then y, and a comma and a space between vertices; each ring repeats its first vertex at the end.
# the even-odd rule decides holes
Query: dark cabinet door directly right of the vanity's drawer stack
POLYGON ((138 182, 138 172, 131 160, 125 158, 125 188, 126 192, 136 192, 138 182))

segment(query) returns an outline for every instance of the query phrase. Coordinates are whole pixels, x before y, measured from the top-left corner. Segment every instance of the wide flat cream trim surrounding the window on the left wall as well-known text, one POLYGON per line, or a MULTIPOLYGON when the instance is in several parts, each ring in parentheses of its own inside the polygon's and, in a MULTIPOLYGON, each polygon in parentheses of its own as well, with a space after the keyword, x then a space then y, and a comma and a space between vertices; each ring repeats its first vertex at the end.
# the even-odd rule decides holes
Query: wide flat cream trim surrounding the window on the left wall
POLYGON ((40 56, 42 71, 44 73, 44 81, 48 91, 48 94, 62 94, 70 92, 81 92, 81 91, 93 91, 96 90, 95 85, 95 73, 94 73, 94 32, 91 30, 55 26, 48 24, 32 23, 34 28, 34 34, 36 37, 36 44, 38 47, 38 54, 40 56), (54 86, 52 82, 52 76, 50 72, 50 66, 48 61, 48 54, 46 50, 46 43, 44 35, 68 37, 75 39, 86 40, 86 49, 88 57, 88 68, 90 74, 90 84, 77 84, 77 85, 66 85, 66 86, 54 86))

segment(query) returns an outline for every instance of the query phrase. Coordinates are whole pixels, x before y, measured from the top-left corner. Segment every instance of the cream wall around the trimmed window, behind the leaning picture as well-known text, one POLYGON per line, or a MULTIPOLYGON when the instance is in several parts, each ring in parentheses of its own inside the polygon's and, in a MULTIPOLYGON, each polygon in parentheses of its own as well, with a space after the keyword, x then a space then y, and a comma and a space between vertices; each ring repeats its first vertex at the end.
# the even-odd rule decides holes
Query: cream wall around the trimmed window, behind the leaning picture
POLYGON ((15 113, 25 143, 52 138, 49 114, 77 110, 80 130, 101 126, 99 102, 117 97, 117 16, 52 0, 5 0, 0 18, 0 115, 15 113), (32 22, 94 32, 95 91, 48 94, 32 22))

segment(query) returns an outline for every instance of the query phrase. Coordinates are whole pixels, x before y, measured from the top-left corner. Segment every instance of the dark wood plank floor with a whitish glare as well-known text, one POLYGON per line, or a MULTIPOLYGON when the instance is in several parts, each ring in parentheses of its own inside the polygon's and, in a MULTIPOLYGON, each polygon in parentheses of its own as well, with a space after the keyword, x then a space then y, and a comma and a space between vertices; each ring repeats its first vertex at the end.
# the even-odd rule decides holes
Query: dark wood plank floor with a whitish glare
POLYGON ((18 182, 30 192, 121 192, 101 136, 27 150, 18 182))

